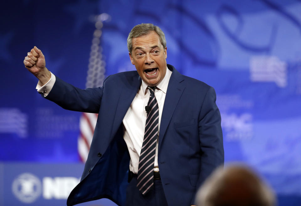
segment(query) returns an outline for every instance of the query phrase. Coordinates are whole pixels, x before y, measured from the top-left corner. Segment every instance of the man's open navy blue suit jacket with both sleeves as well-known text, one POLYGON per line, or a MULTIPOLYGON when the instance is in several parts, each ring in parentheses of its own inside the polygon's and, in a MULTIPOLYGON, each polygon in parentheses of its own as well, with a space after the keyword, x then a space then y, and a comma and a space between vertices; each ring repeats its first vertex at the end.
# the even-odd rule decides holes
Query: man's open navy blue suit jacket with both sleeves
MULTIPOLYGON (((159 135, 158 164, 168 205, 194 203, 205 178, 224 163, 221 117, 212 87, 181 75, 172 65, 159 135)), ((82 174, 67 205, 109 198, 124 205, 129 152, 122 120, 141 85, 137 71, 109 76, 103 87, 78 89, 56 78, 46 99, 73 111, 98 113, 82 174)))

